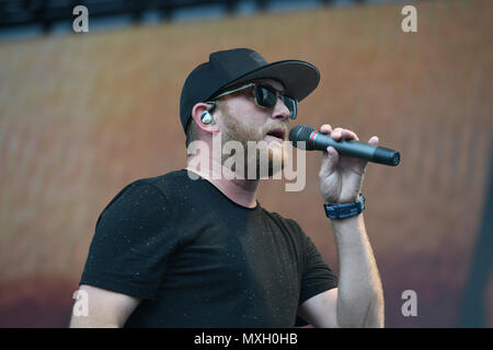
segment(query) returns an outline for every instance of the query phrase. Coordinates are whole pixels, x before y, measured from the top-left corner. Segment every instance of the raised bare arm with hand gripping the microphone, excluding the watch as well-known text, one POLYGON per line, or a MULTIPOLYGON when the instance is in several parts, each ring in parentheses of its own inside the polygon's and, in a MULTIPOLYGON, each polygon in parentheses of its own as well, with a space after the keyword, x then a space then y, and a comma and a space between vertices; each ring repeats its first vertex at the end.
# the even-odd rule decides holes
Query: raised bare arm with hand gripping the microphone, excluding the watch
MULTIPOLYGON (((320 129, 334 140, 357 140, 348 130, 329 125, 320 129)), ((377 145, 378 139, 371 138, 377 145)), ((322 196, 328 203, 356 200, 367 162, 339 156, 328 148, 319 173, 322 196)), ((383 327, 383 292, 371 246, 366 234, 363 213, 332 220, 340 261, 337 289, 320 293, 300 306, 300 315, 316 327, 383 327)))

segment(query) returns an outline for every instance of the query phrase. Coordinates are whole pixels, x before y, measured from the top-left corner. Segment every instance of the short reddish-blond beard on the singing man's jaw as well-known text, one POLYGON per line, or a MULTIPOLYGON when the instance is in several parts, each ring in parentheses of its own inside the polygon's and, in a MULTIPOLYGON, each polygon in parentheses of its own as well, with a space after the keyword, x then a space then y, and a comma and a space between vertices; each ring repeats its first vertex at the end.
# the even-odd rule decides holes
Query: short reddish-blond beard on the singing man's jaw
MULTIPOLYGON (((228 141, 237 141, 241 143, 243 149, 243 158, 236 158, 234 162, 236 166, 239 165, 242 168, 231 168, 231 171, 242 174, 244 178, 251 179, 253 175, 255 179, 260 179, 271 177, 284 168, 288 161, 286 144, 284 142, 268 142, 265 137, 270 130, 277 128, 284 129, 285 135, 287 135, 285 122, 276 121, 259 130, 259 128, 232 117, 227 110, 222 110, 222 115, 226 126, 221 132, 222 144, 228 141)), ((230 154, 223 154, 222 162, 236 156, 234 153, 236 150, 232 150, 230 154)))

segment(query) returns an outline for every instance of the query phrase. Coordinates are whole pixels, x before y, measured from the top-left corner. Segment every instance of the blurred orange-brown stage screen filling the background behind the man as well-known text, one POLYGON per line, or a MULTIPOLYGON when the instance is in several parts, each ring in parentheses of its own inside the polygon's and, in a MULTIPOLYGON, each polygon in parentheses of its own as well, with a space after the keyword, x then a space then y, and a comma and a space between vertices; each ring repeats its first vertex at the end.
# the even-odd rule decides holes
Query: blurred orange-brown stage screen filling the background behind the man
MULTIPOLYGON (((386 326, 491 327, 493 2, 410 3, 415 33, 402 31, 404 3, 107 31, 91 30, 88 5, 87 33, 0 37, 0 326, 68 325, 100 212, 126 184, 185 166, 184 79, 211 51, 249 47, 320 69, 296 124, 401 152, 398 167, 370 164, 363 187, 386 326), (402 313, 408 290, 416 316, 402 313)), ((320 156, 308 154, 302 191, 266 180, 259 201, 297 220, 337 271, 320 156)))

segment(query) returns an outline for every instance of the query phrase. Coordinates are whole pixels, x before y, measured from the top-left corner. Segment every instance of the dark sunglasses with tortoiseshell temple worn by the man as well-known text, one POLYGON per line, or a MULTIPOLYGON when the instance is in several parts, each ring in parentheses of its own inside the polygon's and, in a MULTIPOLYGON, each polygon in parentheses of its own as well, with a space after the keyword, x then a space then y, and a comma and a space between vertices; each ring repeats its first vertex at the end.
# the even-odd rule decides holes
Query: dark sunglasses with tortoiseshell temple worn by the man
POLYGON ((249 84, 240 86, 238 89, 223 92, 223 93, 217 95, 216 97, 214 97, 214 100, 217 100, 222 96, 230 95, 230 94, 233 94, 233 93, 237 93, 239 91, 243 91, 243 90, 246 90, 250 88, 252 88, 253 97, 254 97, 255 104, 259 107, 272 109, 276 105, 277 98, 280 98, 280 101, 289 109, 289 118, 296 119, 296 115, 298 114, 298 100, 289 97, 289 96, 285 95, 284 93, 279 92, 268 85, 260 85, 260 84, 255 84, 255 83, 249 83, 249 84))

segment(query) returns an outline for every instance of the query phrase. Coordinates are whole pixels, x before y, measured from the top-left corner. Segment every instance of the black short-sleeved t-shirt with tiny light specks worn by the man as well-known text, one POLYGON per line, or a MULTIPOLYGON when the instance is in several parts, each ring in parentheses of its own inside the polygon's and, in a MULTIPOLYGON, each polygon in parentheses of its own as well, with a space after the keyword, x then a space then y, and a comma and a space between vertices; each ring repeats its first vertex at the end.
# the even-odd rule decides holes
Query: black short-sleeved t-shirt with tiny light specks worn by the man
POLYGON ((142 299, 126 327, 293 327, 337 278, 295 221, 182 170, 108 203, 80 284, 142 299))

